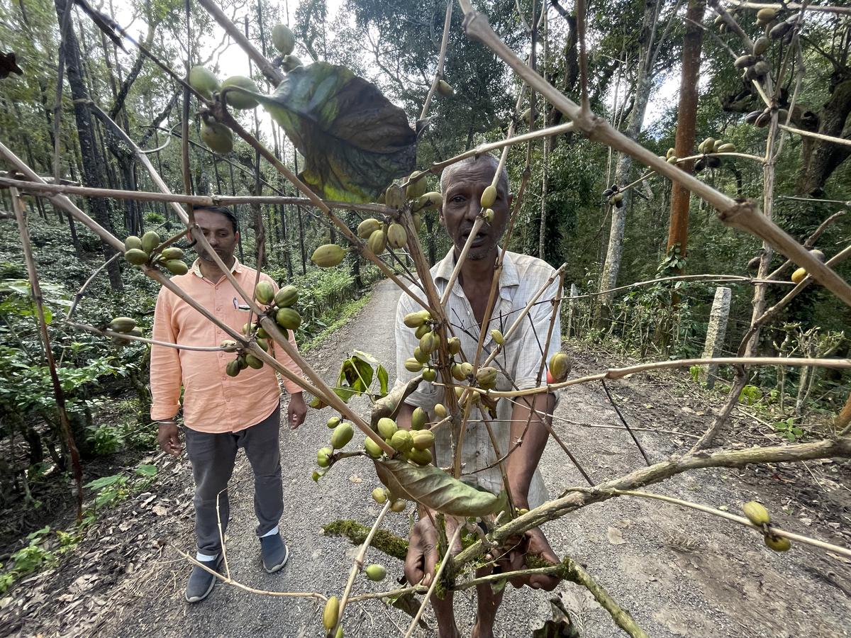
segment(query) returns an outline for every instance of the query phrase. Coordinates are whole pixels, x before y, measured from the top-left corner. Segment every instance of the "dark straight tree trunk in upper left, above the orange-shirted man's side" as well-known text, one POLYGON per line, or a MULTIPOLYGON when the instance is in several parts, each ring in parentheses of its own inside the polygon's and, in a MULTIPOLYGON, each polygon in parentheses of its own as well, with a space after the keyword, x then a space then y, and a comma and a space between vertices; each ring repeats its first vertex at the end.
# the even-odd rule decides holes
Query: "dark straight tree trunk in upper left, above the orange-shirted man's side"
MULTIPOLYGON (((66 3, 71 0, 54 0, 56 15, 59 20, 65 12, 66 3)), ((83 160, 83 179, 85 185, 92 188, 104 188, 106 186, 106 168, 104 158, 100 156, 98 147, 94 140, 94 122, 91 111, 89 111, 89 92, 83 82, 82 65, 80 61, 80 47, 73 29, 68 29, 63 46, 65 56, 65 68, 68 83, 71 85, 71 96, 74 99, 74 117, 77 121, 77 135, 80 140, 80 152, 83 160)), ((92 217, 100 225, 112 232, 112 219, 110 214, 109 200, 104 197, 91 197, 89 199, 89 210, 92 217)), ((100 241, 103 249, 104 259, 110 259, 115 254, 115 249, 103 240, 100 241)), ((117 261, 106 266, 110 285, 114 290, 122 290, 121 271, 117 261)))

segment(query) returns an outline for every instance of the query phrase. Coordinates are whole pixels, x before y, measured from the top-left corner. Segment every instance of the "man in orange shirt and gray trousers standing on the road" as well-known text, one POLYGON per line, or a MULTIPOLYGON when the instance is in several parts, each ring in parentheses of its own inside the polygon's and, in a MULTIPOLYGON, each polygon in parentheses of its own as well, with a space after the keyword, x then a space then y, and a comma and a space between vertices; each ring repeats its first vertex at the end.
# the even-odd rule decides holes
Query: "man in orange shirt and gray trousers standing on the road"
MULTIPOLYGON (((222 262, 243 290, 254 290, 257 271, 240 264, 234 256, 239 240, 237 218, 228 208, 197 208, 195 221, 222 262)), ((260 274, 271 282, 271 277, 260 274)), ((186 275, 172 282, 191 295, 210 313, 239 331, 248 322, 248 305, 233 288, 213 258, 198 250, 198 259, 186 275)), ((208 321, 176 294, 162 288, 154 312, 153 339, 178 345, 215 346, 228 339, 224 330, 208 321)), ((293 334, 289 342, 295 347, 293 334)), ((270 340, 270 353, 278 362, 301 375, 300 368, 270 340)), ((151 419, 159 423, 159 443, 164 452, 180 456, 180 431, 175 416, 180 410, 183 387, 183 420, 186 454, 195 479, 195 535, 197 560, 218 571, 221 534, 230 516, 227 482, 231 478, 237 448, 242 447, 254 470, 254 512, 260 555, 266 572, 280 570, 288 550, 278 531, 283 514, 281 453, 281 390, 271 367, 247 367, 237 377, 226 374, 232 353, 177 350, 162 345, 151 348, 151 419), (218 501, 218 503, 217 503, 218 501), (218 512, 218 518, 217 518, 218 512)), ((305 420, 307 407, 301 388, 284 379, 288 391, 287 422, 293 429, 305 420)), ((186 601, 202 601, 213 590, 216 578, 201 567, 192 567, 186 584, 186 601)))

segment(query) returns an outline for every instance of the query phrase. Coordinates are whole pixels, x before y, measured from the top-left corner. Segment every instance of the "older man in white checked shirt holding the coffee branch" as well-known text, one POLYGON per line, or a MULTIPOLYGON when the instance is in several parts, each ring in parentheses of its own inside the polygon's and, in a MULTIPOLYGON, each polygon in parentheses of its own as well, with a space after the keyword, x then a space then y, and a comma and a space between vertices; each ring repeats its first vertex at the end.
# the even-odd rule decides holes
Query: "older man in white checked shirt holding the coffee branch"
MULTIPOLYGON (((486 186, 490 185, 498 164, 496 158, 488 154, 478 158, 471 157, 443 171, 441 176, 443 204, 440 209, 440 222, 452 238, 454 246, 442 261, 431 268, 432 279, 440 294, 443 294, 448 285, 455 258, 464 247, 473 222, 481 209, 479 201, 482 192, 486 186)), ((503 253, 499 247, 511 211, 511 193, 505 170, 502 171, 497 182, 497 198, 491 208, 494 209, 493 222, 489 225, 484 224, 473 240, 465 263, 461 266, 460 276, 449 294, 446 309, 452 331, 460 338, 461 350, 468 358, 475 356, 479 332, 480 329, 484 329, 487 336, 480 362, 483 362, 496 346, 490 337, 490 331, 498 328, 505 333, 517 316, 520 316, 521 310, 528 301, 545 285, 554 272, 550 265, 540 259, 511 252, 503 253), (496 259, 500 254, 504 255, 504 259, 500 275, 499 297, 495 302, 490 323, 480 328, 488 305, 496 259)), ((543 303, 534 305, 511 339, 506 340, 503 352, 493 365, 498 369, 500 367, 504 369, 510 378, 500 372, 497 381, 498 390, 511 390, 515 387, 523 390, 535 387, 538 385, 541 362, 549 360, 552 354, 561 349, 561 326, 557 318, 549 349, 546 354, 543 353, 552 316, 550 301, 556 298, 557 288, 558 279, 554 278, 551 285, 540 295, 539 301, 543 303)), ((405 369, 404 362, 412 356, 414 347, 419 344, 419 339, 416 339, 414 332, 403 324, 402 319, 409 312, 420 309, 420 305, 406 294, 399 299, 396 316, 397 383, 405 383, 415 376, 415 373, 409 373, 405 369)), ((503 398, 497 404, 497 417, 492 420, 492 428, 500 454, 505 455, 521 437, 523 440, 505 461, 511 496, 518 508, 536 507, 547 498, 546 489, 538 471, 538 463, 549 433, 545 425, 541 423, 540 415, 552 413, 556 401, 557 397, 554 394, 541 393, 518 401, 503 398), (533 410, 528 430, 523 434, 529 413, 533 410)), ((420 384, 420 388, 406 399, 398 415, 398 424, 400 427, 410 428, 411 414, 415 407, 427 410, 431 421, 438 420, 434 416, 433 408, 440 402, 443 402, 442 386, 420 384)), ((466 424, 467 430, 461 453, 462 480, 475 481, 479 486, 499 493, 503 486, 502 476, 496 465, 498 457, 494 453, 485 424, 483 421, 475 420, 477 415, 477 410, 474 409, 473 418, 466 424)), ((543 418, 549 422, 549 417, 543 418)), ((435 464, 443 467, 451 465, 453 460, 450 434, 450 429, 445 426, 435 432, 435 464)), ((511 549, 506 549, 505 555, 498 562, 497 569, 503 572, 522 569, 525 556, 530 554, 547 561, 558 561, 544 534, 538 528, 529 530, 525 538, 513 540, 511 549)), ((411 532, 408 556, 405 560, 405 575, 410 583, 428 584, 431 581, 438 560, 436 546, 437 533, 431 518, 426 515, 426 512, 420 511, 420 520, 411 532)), ((460 548, 456 548, 458 549, 460 548)), ((548 576, 512 580, 512 584, 516 587, 528 584, 535 589, 545 590, 554 589, 557 582, 556 578, 548 576)), ((493 635, 494 616, 501 601, 502 593, 494 594, 488 584, 477 588, 478 612, 477 623, 472 631, 474 638, 488 638, 493 635)), ((441 638, 460 636, 454 621, 452 594, 449 593, 443 601, 434 597, 431 602, 437 615, 441 638)))

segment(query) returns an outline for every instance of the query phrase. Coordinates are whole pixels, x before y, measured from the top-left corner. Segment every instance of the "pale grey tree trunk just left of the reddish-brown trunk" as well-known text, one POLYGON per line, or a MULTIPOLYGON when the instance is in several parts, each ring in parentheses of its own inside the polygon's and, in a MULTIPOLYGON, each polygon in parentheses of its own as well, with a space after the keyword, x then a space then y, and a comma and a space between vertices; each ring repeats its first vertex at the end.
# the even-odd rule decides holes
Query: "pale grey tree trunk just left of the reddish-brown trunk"
MULTIPOLYGON (((641 34, 639 36, 638 70, 636 75, 635 100, 630 111, 630 120, 626 125, 624 134, 635 140, 641 132, 644 124, 644 114, 647 111, 650 89, 652 88, 653 74, 649 67, 653 51, 653 31, 657 15, 656 6, 659 0, 646 0, 644 3, 644 17, 642 20, 641 34)), ((630 182, 632 158, 623 153, 618 157, 618 165, 614 171, 614 179, 618 186, 623 187, 630 182)), ((603 274, 600 276, 600 291, 614 288, 618 282, 620 271, 620 259, 624 252, 624 231, 626 228, 626 210, 629 208, 631 199, 630 191, 624 193, 623 205, 612 207, 612 225, 608 233, 608 248, 606 249, 606 261, 603 264, 603 274)), ((597 328, 603 327, 608 322, 614 293, 602 293, 597 301, 595 322, 597 328)))

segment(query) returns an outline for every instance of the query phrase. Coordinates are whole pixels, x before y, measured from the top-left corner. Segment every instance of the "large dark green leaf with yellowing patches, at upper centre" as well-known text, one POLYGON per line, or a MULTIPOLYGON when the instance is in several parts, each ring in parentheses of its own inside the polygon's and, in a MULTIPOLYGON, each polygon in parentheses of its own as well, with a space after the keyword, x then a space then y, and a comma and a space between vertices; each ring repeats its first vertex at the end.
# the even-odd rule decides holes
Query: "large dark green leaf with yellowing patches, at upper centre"
POLYGON ((325 199, 374 202, 414 170, 416 134, 405 111, 345 66, 298 66, 274 94, 252 95, 305 157, 300 179, 325 199))

